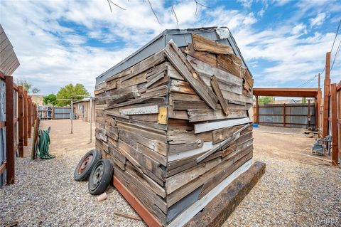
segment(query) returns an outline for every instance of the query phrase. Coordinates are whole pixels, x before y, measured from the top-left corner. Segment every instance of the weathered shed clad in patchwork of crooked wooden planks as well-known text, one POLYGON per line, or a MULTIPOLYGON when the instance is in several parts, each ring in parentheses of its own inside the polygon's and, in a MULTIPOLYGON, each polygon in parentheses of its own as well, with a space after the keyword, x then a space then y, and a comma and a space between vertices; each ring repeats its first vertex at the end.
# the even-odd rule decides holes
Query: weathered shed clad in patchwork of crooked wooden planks
POLYGON ((166 30, 97 77, 96 148, 149 226, 183 226, 249 168, 252 86, 217 27, 166 30))

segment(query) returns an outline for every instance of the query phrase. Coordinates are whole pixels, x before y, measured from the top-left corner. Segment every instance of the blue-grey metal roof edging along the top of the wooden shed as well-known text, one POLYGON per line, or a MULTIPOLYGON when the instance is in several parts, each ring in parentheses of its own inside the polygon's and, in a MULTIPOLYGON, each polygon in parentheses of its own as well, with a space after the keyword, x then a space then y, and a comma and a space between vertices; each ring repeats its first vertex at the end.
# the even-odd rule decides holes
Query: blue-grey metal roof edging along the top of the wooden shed
MULTIPOLYGON (((139 48, 138 51, 131 54, 131 56, 125 58, 117 65, 114 65, 112 68, 102 73, 96 78, 96 84, 101 83, 107 78, 112 77, 113 75, 120 73, 121 71, 129 68, 136 63, 139 63, 141 60, 152 56, 154 53, 161 51, 163 48, 167 46, 167 43, 171 40, 174 41, 176 46, 183 47, 187 46, 188 43, 192 43, 192 33, 197 33, 200 36, 204 36, 205 38, 210 38, 211 40, 218 41, 227 46, 231 46, 234 54, 236 54, 239 58, 242 59, 243 65, 247 67, 247 64, 242 57, 242 53, 240 53, 239 48, 237 47, 237 43, 234 41, 232 33, 230 33, 229 28, 227 27, 210 27, 210 28, 188 28, 188 29, 171 29, 165 30, 160 35, 153 38, 146 45, 139 48)), ((249 70, 249 69, 248 69, 249 70)), ((251 72, 249 72, 252 76, 251 72)))

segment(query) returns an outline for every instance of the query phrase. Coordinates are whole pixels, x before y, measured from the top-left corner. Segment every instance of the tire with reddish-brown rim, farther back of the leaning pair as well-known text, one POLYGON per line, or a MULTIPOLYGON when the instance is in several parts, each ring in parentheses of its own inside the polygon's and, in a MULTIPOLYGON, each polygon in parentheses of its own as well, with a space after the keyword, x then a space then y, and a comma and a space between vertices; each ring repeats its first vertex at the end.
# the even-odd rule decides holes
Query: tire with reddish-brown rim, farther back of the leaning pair
POLYGON ((87 152, 82 159, 80 159, 80 162, 77 164, 77 167, 75 169, 75 173, 73 174, 73 178, 76 181, 84 181, 86 180, 92 169, 94 168, 94 165, 98 162, 99 159, 101 159, 102 155, 101 152, 99 152, 97 149, 92 149, 90 152, 87 152), (92 159, 85 161, 89 157, 92 157, 92 159), (82 167, 83 162, 85 162, 85 165, 82 167), (81 169, 82 168, 82 169, 81 169))

